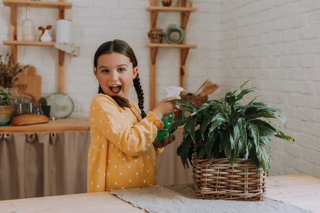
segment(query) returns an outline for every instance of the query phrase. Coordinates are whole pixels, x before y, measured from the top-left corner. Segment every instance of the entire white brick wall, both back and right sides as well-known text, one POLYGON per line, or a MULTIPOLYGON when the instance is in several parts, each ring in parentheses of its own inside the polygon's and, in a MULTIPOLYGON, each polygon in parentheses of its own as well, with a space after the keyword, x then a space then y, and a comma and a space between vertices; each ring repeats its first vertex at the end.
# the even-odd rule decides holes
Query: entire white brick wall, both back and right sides
MULTIPOLYGON (((54 1, 54 0, 52 0, 54 1)), ((65 54, 65 93, 75 103, 72 116, 87 116, 90 101, 97 93, 93 56, 108 40, 126 40, 138 57, 145 108, 149 109, 149 6, 148 0, 85 1, 67 0, 73 8, 65 17, 73 20, 73 40, 80 55, 65 54)), ((158 4, 160 1, 158 0, 158 4)), ((197 12, 190 15, 187 42, 197 44, 187 58, 186 90, 194 92, 208 77, 218 83, 222 95, 247 79, 258 88, 260 101, 281 108, 287 116, 290 143, 272 138, 270 175, 306 173, 320 177, 320 5, 305 0, 197 0, 197 12)), ((18 8, 18 23, 25 9, 18 8)), ((8 40, 10 7, 0 4, 0 40, 8 40)), ((39 26, 52 25, 56 9, 31 8, 31 18, 39 26)), ((159 13, 157 27, 179 25, 179 15, 159 13)), ((36 30, 37 35, 40 31, 36 30)), ((10 47, 0 44, 0 53, 10 47)), ((18 62, 30 63, 42 76, 42 93, 57 91, 55 48, 19 46, 18 62)), ((179 50, 159 49, 157 55, 157 101, 165 97, 163 87, 179 84, 179 50)), ((135 99, 135 91, 130 97, 135 99)), ((210 99, 217 94, 211 94, 210 99)))

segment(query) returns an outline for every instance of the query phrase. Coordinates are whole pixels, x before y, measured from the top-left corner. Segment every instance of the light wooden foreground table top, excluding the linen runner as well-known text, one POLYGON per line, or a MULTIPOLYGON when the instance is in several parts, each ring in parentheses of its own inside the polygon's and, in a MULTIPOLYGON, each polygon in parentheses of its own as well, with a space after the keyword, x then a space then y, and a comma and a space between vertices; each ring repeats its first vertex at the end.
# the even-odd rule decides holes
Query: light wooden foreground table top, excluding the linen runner
MULTIPOLYGON (((267 196, 320 213, 320 179, 308 175, 268 177, 267 196)), ((1 212, 145 212, 109 192, 0 201, 1 212)))

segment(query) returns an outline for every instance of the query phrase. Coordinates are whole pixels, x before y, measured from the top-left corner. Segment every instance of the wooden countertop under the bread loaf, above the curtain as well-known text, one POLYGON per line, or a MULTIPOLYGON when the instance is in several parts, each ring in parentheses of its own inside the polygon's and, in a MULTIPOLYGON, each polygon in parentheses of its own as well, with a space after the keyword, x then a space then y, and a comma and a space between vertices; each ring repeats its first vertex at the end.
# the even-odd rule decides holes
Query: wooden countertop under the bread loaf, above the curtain
POLYGON ((45 124, 33 124, 26 126, 6 126, 0 128, 0 134, 13 134, 25 132, 33 134, 34 132, 48 132, 55 133, 58 131, 81 131, 89 130, 88 117, 67 117, 65 119, 50 120, 45 124))

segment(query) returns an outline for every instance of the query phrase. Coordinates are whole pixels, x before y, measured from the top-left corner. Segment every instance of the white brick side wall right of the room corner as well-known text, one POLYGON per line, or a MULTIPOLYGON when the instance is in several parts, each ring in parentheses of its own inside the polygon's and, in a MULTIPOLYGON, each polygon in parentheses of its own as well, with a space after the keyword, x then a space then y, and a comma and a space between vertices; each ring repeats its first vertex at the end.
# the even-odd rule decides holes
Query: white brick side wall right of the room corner
POLYGON ((222 1, 220 90, 251 79, 295 138, 272 138, 270 175, 320 177, 319 9, 319 1, 222 1))

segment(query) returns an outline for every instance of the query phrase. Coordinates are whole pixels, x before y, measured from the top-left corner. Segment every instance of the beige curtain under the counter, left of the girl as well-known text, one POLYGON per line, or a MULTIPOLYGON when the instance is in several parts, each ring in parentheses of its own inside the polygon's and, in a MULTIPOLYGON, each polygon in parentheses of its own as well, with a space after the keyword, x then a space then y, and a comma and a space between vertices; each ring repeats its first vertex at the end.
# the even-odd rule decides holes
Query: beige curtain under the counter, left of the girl
POLYGON ((89 131, 0 135, 0 200, 86 192, 89 131))

